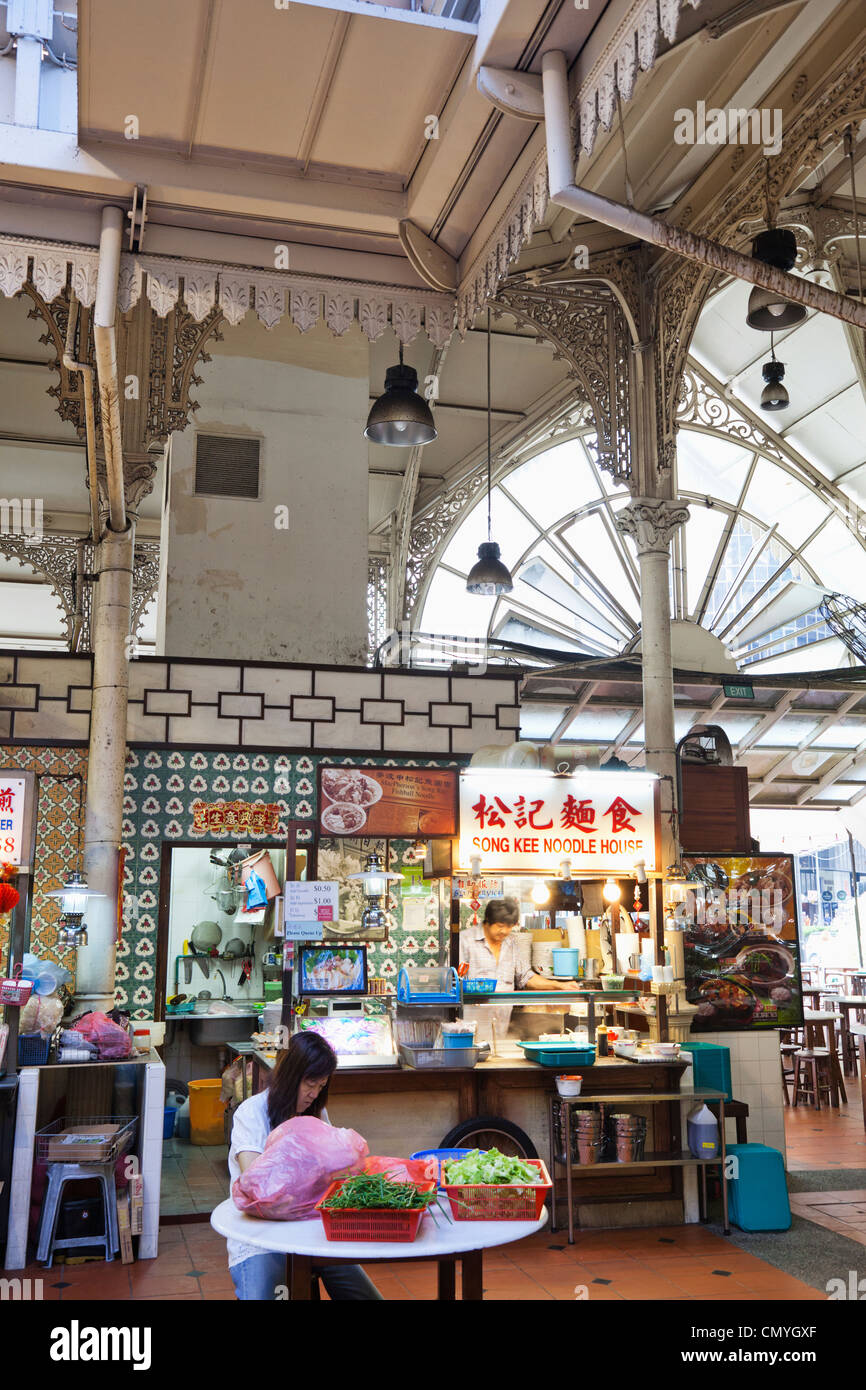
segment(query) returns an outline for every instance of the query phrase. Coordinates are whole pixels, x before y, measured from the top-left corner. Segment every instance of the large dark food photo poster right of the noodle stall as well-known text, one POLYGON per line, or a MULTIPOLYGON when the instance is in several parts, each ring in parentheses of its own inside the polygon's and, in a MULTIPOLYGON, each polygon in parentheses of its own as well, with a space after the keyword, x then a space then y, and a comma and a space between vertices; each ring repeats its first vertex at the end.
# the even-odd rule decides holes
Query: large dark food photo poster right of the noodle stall
POLYGON ((798 1027, 803 998, 790 855, 685 855, 677 908, 692 1033, 798 1027))

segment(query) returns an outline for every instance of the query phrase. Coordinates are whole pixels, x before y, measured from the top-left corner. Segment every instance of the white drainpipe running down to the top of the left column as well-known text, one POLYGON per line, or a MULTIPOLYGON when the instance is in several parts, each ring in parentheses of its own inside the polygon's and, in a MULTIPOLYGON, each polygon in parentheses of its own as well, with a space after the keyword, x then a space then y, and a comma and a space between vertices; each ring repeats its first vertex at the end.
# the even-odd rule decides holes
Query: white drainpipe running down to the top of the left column
POLYGON ((126 493, 124 486, 124 441, 121 432, 120 386, 117 379, 117 277, 121 265, 124 213, 120 207, 103 208, 99 238, 99 271, 93 306, 93 346, 99 375, 99 400, 103 416, 103 441, 108 491, 108 527, 126 530, 126 493))

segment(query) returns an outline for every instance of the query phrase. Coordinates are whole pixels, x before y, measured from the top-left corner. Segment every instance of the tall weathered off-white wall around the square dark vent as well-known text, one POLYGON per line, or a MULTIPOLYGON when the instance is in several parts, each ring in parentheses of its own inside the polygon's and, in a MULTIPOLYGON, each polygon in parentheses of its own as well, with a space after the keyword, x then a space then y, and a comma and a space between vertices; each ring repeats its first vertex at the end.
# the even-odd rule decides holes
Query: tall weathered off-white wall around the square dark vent
POLYGON ((367 339, 247 314, 213 353, 170 445, 157 652, 363 664, 367 339), (196 431, 261 439, 257 500, 193 495, 196 431))

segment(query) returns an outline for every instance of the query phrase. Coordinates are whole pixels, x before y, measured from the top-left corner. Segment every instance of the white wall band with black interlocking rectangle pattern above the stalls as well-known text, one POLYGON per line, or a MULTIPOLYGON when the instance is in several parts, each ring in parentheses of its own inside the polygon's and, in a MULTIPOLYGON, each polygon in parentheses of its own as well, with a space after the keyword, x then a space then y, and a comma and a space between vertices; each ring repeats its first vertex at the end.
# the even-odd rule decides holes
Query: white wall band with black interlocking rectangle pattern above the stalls
MULTIPOLYGON (((89 656, 0 653, 0 739, 86 744, 89 656)), ((520 678, 368 667, 139 657, 131 746, 466 756, 520 726, 520 678)))

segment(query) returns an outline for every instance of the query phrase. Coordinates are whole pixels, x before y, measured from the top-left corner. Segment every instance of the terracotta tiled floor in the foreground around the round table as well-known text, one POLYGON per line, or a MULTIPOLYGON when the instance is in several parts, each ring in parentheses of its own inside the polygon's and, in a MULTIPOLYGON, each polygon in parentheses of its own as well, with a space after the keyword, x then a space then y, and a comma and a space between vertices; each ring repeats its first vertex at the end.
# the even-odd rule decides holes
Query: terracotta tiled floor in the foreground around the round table
MULTIPOLYGON (((391 1301, 435 1300, 436 1273, 428 1264, 395 1261, 368 1272, 391 1301)), ((234 1300, 225 1241, 207 1225, 167 1226, 157 1259, 135 1265, 74 1265, 43 1270, 46 1298, 234 1300)), ((587 1232, 569 1245, 562 1234, 500 1245, 485 1259, 489 1301, 765 1301, 823 1300, 824 1294, 701 1227, 587 1232)))

